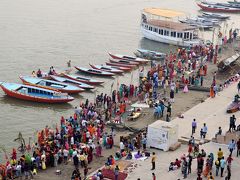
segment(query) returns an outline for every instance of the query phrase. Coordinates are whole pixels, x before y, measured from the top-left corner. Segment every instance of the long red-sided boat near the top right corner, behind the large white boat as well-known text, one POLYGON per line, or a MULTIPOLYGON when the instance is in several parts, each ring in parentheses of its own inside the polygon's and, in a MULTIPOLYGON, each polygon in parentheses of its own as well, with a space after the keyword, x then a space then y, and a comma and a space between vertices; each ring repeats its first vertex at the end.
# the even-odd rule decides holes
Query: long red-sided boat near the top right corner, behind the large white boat
POLYGON ((197 5, 203 11, 209 11, 209 12, 227 12, 227 13, 239 13, 240 12, 240 8, 225 7, 225 6, 215 5, 215 4, 208 4, 208 3, 197 3, 197 5))

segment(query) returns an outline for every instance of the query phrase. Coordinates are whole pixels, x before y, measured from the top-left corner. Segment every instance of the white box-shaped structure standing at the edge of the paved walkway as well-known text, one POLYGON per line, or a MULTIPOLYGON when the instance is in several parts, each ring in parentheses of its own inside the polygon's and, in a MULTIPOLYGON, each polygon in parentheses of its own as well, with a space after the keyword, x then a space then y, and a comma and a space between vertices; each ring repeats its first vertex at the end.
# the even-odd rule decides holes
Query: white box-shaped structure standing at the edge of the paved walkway
POLYGON ((155 121, 148 125, 147 146, 168 151, 169 147, 178 142, 178 126, 171 122, 155 121))

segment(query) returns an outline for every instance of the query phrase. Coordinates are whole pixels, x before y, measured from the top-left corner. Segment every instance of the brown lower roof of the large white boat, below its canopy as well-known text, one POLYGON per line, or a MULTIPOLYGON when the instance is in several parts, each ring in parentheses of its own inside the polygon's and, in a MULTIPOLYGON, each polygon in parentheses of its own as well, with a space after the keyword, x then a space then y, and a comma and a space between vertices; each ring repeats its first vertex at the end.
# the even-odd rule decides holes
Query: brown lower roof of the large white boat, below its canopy
POLYGON ((179 22, 155 20, 155 19, 148 20, 147 24, 152 26, 157 26, 159 28, 174 29, 177 31, 187 31, 187 30, 196 29, 195 27, 192 27, 183 23, 179 23, 179 22))

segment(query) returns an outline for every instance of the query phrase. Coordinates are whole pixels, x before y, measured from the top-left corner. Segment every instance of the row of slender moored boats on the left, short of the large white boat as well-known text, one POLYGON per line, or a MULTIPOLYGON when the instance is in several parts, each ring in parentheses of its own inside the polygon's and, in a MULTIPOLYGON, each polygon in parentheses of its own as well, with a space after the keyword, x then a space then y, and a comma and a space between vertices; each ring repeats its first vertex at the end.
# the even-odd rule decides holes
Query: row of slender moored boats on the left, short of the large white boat
MULTIPOLYGON (((145 50, 146 51, 146 50, 145 50)), ((149 62, 147 59, 109 53, 111 59, 106 65, 90 64, 90 68, 75 66, 81 73, 99 77, 111 77, 129 72, 139 65, 149 62)), ((40 71, 40 70, 39 70, 40 71)), ((64 103, 74 100, 69 94, 81 93, 94 89, 104 81, 67 73, 54 73, 42 76, 20 76, 23 84, 1 82, 3 91, 11 97, 43 102, 64 103)))

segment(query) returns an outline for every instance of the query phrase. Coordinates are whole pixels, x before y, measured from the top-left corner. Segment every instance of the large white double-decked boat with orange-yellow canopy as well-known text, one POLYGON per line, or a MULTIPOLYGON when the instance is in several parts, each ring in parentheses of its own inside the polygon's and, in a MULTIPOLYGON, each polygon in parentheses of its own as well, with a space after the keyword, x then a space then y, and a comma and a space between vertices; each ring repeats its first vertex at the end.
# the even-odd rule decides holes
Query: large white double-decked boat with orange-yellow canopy
POLYGON ((196 27, 175 22, 184 13, 168 9, 145 8, 142 11, 141 31, 145 38, 161 43, 189 47, 199 45, 196 27))

